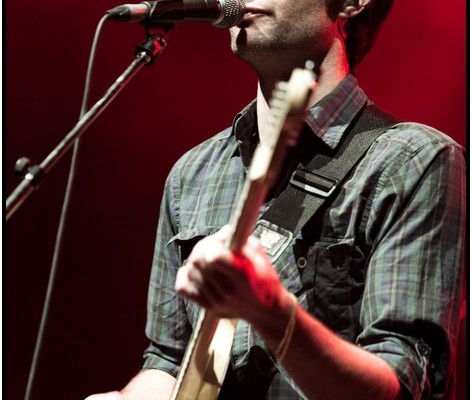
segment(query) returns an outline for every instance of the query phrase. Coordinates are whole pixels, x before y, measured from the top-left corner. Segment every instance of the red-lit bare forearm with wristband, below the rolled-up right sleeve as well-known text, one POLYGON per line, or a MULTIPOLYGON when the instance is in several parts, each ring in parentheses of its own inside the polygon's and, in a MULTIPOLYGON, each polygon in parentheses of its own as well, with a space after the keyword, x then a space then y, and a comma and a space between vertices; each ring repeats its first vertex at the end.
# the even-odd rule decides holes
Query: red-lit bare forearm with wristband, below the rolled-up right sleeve
MULTIPOLYGON (((281 300, 271 321, 253 322, 273 351, 284 336, 290 301, 281 300)), ((281 363, 308 399, 401 399, 399 381, 384 360, 341 339, 299 306, 295 318, 281 363)))

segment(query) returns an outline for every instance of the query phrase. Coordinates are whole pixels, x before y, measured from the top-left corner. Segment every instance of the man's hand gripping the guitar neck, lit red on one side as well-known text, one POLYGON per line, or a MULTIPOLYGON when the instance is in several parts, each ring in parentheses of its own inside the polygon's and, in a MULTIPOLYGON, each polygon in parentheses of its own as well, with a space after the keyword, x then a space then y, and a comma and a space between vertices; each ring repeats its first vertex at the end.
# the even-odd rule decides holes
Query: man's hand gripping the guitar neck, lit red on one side
POLYGON ((255 237, 234 254, 226 246, 229 234, 225 226, 198 242, 178 271, 175 288, 220 318, 251 322, 266 315, 285 289, 255 237))

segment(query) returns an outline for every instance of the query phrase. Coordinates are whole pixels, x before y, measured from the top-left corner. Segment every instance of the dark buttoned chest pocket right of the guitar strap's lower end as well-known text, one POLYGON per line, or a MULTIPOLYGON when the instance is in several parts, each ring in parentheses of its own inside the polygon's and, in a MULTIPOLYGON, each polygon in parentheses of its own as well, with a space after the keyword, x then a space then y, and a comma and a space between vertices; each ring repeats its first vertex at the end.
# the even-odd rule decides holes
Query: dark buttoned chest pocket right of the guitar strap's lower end
POLYGON ((351 342, 360 332, 365 257, 350 239, 323 238, 312 246, 295 244, 308 311, 351 342))

